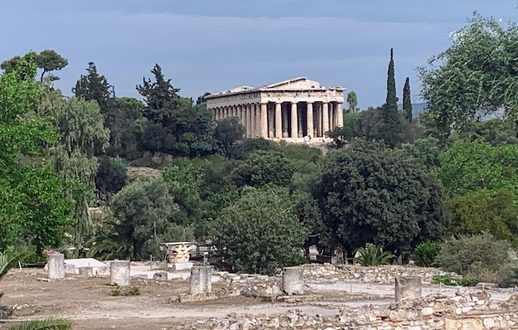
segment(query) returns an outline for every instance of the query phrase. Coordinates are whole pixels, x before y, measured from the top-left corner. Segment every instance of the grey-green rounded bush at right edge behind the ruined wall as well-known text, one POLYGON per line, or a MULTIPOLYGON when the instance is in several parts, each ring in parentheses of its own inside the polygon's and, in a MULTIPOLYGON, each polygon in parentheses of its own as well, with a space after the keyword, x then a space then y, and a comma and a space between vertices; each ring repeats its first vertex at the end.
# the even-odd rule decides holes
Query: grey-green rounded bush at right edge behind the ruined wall
POLYGON ((446 240, 436 260, 445 271, 506 286, 513 281, 512 270, 517 268, 516 262, 510 260, 511 252, 509 242, 484 232, 446 240))

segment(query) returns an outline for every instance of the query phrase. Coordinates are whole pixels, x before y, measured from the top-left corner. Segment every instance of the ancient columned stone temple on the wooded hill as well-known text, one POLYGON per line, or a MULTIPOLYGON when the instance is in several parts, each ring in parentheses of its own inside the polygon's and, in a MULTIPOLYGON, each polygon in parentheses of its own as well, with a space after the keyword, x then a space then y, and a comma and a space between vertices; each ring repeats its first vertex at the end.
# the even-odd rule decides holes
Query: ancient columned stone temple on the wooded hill
POLYGON ((323 138, 343 126, 344 90, 300 77, 258 88, 241 86, 206 99, 215 121, 238 117, 247 137, 296 142, 306 135, 323 138))

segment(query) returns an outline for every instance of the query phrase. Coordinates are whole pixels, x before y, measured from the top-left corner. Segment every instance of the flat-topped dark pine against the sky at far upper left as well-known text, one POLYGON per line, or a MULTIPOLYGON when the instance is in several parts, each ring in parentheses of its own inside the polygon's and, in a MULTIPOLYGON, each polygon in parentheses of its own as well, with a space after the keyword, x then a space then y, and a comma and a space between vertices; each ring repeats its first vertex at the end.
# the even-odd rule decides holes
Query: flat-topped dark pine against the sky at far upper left
MULTIPOLYGON (((68 65, 68 60, 59 55, 55 50, 44 50, 37 54, 36 52, 28 52, 23 57, 15 56, 12 59, 3 61, 0 65, 6 73, 12 72, 17 67, 17 64, 25 61, 27 63, 32 62, 37 65, 38 68, 42 69, 40 81, 44 81, 45 74, 55 70, 61 70, 68 65)), ((19 70, 17 70, 19 72, 19 70)), ((22 72, 19 72, 22 74, 22 72)), ((25 74, 22 74, 25 76, 25 74)), ((34 79, 34 77, 32 77, 34 79)), ((59 77, 50 75, 50 80, 58 80, 59 77)))

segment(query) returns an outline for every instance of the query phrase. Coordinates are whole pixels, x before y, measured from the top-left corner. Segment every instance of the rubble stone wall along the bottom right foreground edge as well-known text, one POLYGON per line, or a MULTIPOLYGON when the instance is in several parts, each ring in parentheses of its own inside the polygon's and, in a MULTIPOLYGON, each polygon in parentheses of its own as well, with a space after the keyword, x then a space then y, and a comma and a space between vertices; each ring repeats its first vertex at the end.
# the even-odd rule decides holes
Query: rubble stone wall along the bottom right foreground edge
POLYGON ((463 293, 453 298, 428 296, 403 300, 390 306, 343 309, 333 318, 312 318, 301 311, 273 316, 230 314, 226 318, 198 321, 183 329, 305 329, 305 330, 491 330, 518 325, 518 296, 508 302, 490 299, 485 291, 463 293))

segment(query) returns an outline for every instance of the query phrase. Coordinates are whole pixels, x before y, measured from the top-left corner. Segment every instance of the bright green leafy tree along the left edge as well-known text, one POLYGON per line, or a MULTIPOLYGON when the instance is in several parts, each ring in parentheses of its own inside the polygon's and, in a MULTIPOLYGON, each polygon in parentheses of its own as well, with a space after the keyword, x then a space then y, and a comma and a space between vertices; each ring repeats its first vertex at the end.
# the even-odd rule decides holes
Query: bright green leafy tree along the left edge
POLYGON ((28 116, 41 95, 35 75, 36 65, 21 59, 0 76, 0 249, 25 240, 41 254, 61 243, 70 204, 48 166, 21 164, 21 157, 42 155, 41 147, 56 138, 47 117, 28 116))

